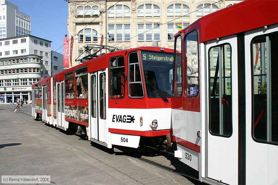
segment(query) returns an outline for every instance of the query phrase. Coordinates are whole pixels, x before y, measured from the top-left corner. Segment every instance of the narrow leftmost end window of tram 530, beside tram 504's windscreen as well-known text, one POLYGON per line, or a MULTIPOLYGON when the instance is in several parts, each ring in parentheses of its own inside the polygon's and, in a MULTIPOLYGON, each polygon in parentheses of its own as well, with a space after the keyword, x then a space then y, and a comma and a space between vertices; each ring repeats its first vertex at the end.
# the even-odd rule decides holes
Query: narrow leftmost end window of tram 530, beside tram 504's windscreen
POLYGON ((175 55, 174 55, 174 84, 173 84, 173 96, 181 96, 183 91, 183 78, 182 78, 182 66, 181 66, 181 36, 175 38, 175 55))

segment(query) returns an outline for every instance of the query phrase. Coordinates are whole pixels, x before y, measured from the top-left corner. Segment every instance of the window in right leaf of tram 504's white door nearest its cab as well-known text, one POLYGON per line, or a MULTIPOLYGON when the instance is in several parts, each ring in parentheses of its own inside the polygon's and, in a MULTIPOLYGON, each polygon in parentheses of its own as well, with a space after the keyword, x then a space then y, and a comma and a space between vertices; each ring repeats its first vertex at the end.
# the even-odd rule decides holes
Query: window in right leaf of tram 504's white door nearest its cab
POLYGON ((106 78, 105 72, 99 75, 99 113, 101 119, 106 119, 106 78))

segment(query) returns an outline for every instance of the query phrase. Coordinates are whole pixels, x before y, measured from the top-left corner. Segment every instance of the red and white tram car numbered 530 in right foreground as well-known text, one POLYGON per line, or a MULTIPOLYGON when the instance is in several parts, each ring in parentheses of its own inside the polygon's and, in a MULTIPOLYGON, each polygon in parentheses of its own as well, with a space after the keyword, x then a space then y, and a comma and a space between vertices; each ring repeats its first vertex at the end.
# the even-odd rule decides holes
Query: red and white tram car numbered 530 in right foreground
POLYGON ((202 182, 278 184, 277 7, 246 0, 175 35, 175 157, 202 182))

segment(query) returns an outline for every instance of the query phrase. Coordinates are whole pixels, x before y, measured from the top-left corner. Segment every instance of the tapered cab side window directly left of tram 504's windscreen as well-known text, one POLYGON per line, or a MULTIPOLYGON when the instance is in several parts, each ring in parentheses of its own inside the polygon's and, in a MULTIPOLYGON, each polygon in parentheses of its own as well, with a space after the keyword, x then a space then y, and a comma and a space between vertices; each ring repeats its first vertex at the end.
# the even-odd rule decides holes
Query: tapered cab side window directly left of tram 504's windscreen
POLYGON ((128 63, 128 94, 130 97, 144 97, 142 75, 140 70, 139 56, 137 52, 129 54, 128 63))

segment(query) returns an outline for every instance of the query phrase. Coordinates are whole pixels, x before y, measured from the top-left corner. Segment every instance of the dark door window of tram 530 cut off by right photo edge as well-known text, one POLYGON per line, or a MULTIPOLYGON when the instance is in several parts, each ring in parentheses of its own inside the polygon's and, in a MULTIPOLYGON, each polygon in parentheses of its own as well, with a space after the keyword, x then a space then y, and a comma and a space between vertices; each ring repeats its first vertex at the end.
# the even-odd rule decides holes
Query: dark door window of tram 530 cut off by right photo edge
POLYGON ((278 32, 257 37, 252 52, 252 135, 258 142, 278 143, 278 32))

